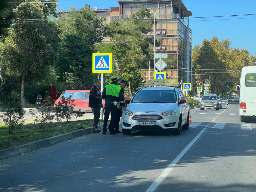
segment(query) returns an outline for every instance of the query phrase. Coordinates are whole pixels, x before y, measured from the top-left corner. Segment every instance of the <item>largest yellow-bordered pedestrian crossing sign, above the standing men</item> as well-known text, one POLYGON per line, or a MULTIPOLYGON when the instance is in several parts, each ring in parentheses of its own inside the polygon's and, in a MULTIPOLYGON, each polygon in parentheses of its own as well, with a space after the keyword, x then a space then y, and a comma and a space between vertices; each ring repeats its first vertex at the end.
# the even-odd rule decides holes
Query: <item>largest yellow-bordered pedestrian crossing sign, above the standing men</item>
POLYGON ((112 53, 93 53, 92 73, 112 73, 112 53))

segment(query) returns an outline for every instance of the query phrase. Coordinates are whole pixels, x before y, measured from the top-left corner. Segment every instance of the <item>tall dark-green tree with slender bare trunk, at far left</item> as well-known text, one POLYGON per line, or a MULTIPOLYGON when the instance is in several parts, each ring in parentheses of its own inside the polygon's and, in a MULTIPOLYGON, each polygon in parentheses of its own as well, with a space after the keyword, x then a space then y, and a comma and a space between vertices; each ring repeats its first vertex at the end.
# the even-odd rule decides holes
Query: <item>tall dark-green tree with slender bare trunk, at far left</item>
POLYGON ((31 79, 43 78, 48 66, 53 65, 56 60, 59 42, 57 24, 51 20, 42 21, 48 19, 51 12, 52 7, 31 2, 20 3, 14 10, 18 20, 14 22, 10 36, 15 43, 17 60, 8 68, 22 79, 22 106, 25 106, 25 83, 31 79), (24 19, 30 19, 30 23, 24 19))

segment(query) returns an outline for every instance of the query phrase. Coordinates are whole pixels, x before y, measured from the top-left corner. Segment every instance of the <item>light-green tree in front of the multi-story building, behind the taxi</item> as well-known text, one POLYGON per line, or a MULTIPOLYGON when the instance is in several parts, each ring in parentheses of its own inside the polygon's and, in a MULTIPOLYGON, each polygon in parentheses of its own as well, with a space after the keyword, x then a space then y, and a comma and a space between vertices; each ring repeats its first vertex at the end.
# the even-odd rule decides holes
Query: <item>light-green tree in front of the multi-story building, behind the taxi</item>
POLYGON ((131 18, 114 21, 106 26, 111 43, 102 42, 97 46, 97 50, 105 52, 109 50, 113 53, 113 58, 118 63, 120 76, 129 82, 129 94, 136 92, 142 82, 143 71, 141 67, 148 66, 149 54, 152 50, 149 45, 151 38, 142 39, 143 35, 152 31, 154 19, 148 9, 140 9, 131 18), (142 22, 142 18, 147 17, 148 22, 142 22))

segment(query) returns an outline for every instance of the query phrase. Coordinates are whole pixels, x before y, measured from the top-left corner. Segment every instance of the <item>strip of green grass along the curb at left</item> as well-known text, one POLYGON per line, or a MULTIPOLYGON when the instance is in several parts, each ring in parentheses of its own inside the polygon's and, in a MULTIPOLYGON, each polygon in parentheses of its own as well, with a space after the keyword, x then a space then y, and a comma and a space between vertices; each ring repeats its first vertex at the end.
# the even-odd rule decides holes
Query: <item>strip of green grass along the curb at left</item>
MULTIPOLYGON (((16 127, 10 135, 8 127, 4 123, 0 123, 0 150, 85 129, 91 127, 92 122, 93 119, 70 121, 68 124, 66 122, 45 123, 42 129, 39 124, 29 123, 16 127)), ((99 120, 98 125, 100 124, 103 124, 103 120, 99 120)))

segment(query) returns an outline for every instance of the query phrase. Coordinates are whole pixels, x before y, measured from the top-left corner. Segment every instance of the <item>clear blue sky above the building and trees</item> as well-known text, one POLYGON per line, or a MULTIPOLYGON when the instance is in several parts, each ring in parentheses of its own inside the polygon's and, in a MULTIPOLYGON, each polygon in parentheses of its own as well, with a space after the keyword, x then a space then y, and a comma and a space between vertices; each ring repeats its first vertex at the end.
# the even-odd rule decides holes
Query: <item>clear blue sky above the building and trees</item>
MULTIPOLYGON (((191 17, 256 14, 256 0, 182 0, 192 12, 191 17)), ((58 8, 70 5, 84 7, 88 3, 99 9, 118 7, 117 0, 59 0, 58 8)), ((256 56, 256 15, 228 18, 234 20, 189 21, 192 30, 192 45, 201 44, 204 39, 216 36, 219 40, 229 39, 231 47, 244 48, 256 56), (253 17, 253 18, 248 18, 253 17)), ((223 19, 223 18, 220 18, 223 19)), ((202 19, 208 20, 208 19, 202 19)))

